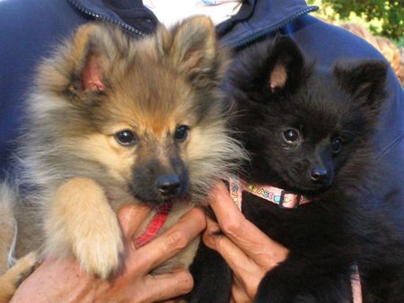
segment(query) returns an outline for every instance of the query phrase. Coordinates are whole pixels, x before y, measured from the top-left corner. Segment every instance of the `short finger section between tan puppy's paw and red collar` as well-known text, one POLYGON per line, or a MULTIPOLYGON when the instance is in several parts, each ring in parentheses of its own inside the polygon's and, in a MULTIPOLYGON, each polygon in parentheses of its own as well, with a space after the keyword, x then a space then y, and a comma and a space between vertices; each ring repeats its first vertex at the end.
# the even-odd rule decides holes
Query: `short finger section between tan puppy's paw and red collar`
POLYGON ((150 208, 143 204, 127 204, 119 210, 119 224, 126 241, 136 233, 149 212, 150 208))

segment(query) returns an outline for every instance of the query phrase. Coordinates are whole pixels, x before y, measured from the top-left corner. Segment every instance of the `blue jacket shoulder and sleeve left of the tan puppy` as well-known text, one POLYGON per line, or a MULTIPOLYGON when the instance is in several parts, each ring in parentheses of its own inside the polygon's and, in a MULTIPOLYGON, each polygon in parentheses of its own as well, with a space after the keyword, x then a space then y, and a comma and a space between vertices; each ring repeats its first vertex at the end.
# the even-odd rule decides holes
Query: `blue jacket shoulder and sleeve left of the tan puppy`
POLYGON ((9 169, 13 140, 40 59, 85 22, 67 1, 0 2, 0 178, 9 169))

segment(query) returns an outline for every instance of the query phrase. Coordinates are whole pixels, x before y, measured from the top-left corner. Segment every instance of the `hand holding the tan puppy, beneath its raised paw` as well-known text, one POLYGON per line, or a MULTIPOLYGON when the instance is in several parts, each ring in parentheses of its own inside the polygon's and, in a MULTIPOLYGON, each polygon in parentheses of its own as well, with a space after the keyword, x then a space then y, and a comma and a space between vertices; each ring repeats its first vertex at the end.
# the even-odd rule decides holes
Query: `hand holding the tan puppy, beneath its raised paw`
POLYGON ((159 275, 151 270, 176 255, 206 228, 203 212, 191 210, 162 236, 136 248, 137 229, 150 210, 127 205, 119 211, 125 254, 122 269, 110 281, 85 273, 74 260, 48 258, 22 282, 11 302, 153 302, 171 299, 193 287, 190 273, 180 271, 159 275))

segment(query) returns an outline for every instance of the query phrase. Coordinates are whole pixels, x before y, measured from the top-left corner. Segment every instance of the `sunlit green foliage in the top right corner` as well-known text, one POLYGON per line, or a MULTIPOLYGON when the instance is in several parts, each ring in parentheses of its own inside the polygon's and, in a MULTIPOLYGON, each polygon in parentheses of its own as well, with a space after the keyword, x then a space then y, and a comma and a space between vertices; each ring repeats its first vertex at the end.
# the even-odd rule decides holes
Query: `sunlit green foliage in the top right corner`
POLYGON ((403 0, 309 0, 308 3, 319 5, 321 15, 331 22, 356 22, 360 18, 373 34, 394 40, 404 36, 403 0))

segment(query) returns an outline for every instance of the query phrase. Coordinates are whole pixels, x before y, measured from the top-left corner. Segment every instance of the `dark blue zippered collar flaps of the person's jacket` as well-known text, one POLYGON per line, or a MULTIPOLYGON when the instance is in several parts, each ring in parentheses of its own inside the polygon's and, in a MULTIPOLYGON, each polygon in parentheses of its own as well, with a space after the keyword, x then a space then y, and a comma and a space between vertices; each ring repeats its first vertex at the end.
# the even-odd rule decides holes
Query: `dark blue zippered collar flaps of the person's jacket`
MULTIPOLYGON (((75 9, 89 19, 101 20, 119 24, 125 30, 136 36, 145 36, 145 34, 154 30, 154 26, 145 26, 145 20, 155 21, 155 16, 148 11, 141 0, 66 0, 72 4, 75 9), (111 7, 111 4, 114 7, 111 7), (118 9, 117 9, 118 8, 118 9), (122 10, 132 13, 139 13, 138 20, 128 24, 122 10), (149 15, 150 18, 145 18, 149 15)), ((223 25, 218 26, 219 35, 222 43, 231 48, 242 48, 255 39, 263 38, 268 34, 279 30, 288 22, 302 16, 303 14, 313 12, 318 8, 308 6, 303 0, 255 0, 248 1, 253 11, 241 10, 233 16, 231 22, 232 30, 223 30, 223 25), (250 12, 250 13, 249 13, 250 12)))

